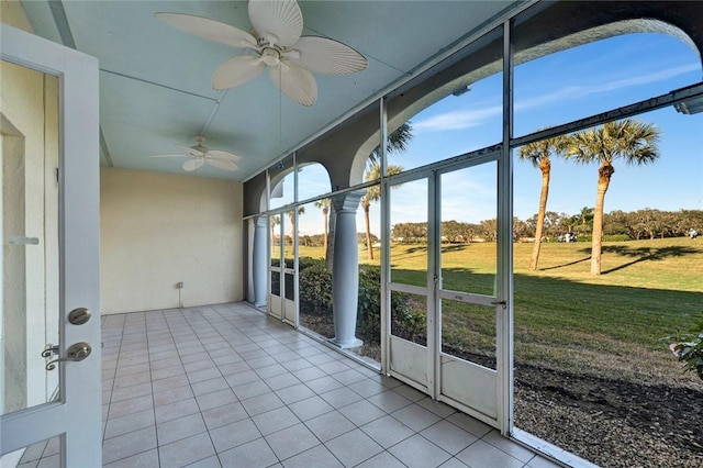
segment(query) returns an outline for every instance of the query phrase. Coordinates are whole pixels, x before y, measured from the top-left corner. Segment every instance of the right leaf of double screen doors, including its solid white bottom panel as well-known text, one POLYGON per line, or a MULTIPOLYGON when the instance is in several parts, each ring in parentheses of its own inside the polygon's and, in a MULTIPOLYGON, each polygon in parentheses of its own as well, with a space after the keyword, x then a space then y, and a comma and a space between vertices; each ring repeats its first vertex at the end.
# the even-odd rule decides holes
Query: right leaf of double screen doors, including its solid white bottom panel
POLYGON ((498 164, 438 175, 438 398, 495 424, 498 164))

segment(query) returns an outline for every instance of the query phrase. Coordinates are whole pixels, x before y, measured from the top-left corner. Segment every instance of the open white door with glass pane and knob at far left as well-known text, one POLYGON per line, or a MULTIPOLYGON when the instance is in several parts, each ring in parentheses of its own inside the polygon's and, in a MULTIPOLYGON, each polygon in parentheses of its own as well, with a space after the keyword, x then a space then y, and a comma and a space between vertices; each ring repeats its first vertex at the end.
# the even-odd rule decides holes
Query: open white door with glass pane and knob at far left
POLYGON ((0 34, 0 155, 12 170, 2 177, 2 466, 53 439, 62 466, 99 467, 98 62, 4 24, 0 34), (42 356, 49 343, 57 355, 42 356))

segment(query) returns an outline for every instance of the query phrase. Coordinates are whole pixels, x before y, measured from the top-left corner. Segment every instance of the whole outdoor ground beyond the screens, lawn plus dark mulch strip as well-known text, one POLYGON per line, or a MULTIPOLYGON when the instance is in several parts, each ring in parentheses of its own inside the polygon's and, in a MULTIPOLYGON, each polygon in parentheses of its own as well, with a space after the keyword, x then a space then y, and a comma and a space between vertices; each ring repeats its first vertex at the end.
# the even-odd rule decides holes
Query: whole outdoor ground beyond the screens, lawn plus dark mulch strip
MULTIPOLYGON (((602 466, 634 466, 640 447, 656 447, 667 466, 703 466, 703 382, 662 341, 703 321, 703 241, 605 243, 598 277, 590 247, 544 244, 539 269, 528 271, 533 245, 513 245, 515 425, 602 466)), ((444 289, 492 296, 495 248, 443 245, 444 289)), ((368 261, 359 246, 359 263, 379 257, 368 261)), ((393 245, 391 277, 426 285, 426 247, 393 245)), ((408 298, 426 313, 424 297, 408 298)), ((443 352, 494 367, 494 308, 444 299, 442 322, 443 352)))

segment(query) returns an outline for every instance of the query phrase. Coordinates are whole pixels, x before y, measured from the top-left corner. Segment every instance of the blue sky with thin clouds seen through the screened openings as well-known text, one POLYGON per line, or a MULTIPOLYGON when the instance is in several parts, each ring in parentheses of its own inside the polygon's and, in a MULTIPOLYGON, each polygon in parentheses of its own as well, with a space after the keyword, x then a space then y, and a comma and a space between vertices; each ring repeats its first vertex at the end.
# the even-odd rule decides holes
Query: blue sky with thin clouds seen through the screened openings
MULTIPOLYGON (((515 136, 663 94, 701 77, 698 53, 661 34, 618 36, 533 60, 515 69, 515 136)), ((499 143, 501 80, 501 75, 483 79, 461 97, 450 96, 415 115, 409 151, 392 155, 389 163, 409 169, 499 143)), ((660 158, 651 166, 615 163, 605 211, 703 209, 703 114, 683 115, 666 108, 636 119, 661 129, 660 158)), ((495 218, 493 174, 491 165, 445 176, 443 219, 495 218)), ((547 209, 574 214, 582 207, 593 207, 596 174, 596 166, 553 160, 547 209)), ((314 168, 301 172, 305 193, 328 191, 321 176, 314 168)), ((391 223, 426 221, 421 185, 393 190, 391 223)), ((515 161, 516 216, 525 220, 536 213, 540 185, 536 168, 515 161)), ((321 220, 320 210, 308 208, 300 220, 301 234, 320 233, 321 220)), ((371 209, 371 231, 377 234, 379 221, 377 204, 371 209)))

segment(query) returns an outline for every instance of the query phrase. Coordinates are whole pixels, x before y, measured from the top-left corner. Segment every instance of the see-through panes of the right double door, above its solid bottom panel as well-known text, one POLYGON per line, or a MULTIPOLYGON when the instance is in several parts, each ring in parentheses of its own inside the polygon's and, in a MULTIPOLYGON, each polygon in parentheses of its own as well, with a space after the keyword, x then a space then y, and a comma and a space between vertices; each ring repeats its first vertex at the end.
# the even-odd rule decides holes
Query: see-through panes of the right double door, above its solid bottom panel
POLYGON ((496 163, 440 176, 442 352, 495 369, 496 163))

